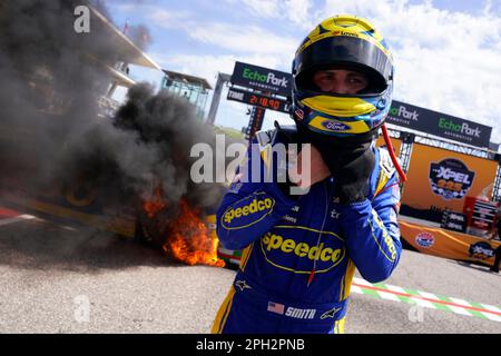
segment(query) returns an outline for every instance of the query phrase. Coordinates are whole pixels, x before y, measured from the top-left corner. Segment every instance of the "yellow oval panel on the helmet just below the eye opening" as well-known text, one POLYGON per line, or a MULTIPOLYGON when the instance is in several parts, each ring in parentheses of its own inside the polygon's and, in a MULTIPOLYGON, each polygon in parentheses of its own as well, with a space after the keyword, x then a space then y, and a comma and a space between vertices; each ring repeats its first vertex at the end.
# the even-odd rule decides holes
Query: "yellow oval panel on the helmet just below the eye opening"
POLYGON ((370 113, 376 109, 375 106, 360 98, 336 97, 336 100, 332 100, 330 96, 316 96, 303 99, 301 102, 313 110, 341 118, 370 113))

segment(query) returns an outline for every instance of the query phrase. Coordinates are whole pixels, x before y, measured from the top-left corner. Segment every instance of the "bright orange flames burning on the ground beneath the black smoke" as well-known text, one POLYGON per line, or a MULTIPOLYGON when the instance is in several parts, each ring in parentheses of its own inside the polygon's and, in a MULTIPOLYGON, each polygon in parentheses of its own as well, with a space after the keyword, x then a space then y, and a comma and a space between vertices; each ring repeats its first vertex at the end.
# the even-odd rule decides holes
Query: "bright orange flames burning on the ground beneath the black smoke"
POLYGON ((164 251, 170 253, 176 259, 193 265, 209 265, 224 267, 224 260, 217 258, 216 234, 210 234, 199 218, 199 211, 191 209, 186 200, 179 202, 180 216, 169 226, 164 251))

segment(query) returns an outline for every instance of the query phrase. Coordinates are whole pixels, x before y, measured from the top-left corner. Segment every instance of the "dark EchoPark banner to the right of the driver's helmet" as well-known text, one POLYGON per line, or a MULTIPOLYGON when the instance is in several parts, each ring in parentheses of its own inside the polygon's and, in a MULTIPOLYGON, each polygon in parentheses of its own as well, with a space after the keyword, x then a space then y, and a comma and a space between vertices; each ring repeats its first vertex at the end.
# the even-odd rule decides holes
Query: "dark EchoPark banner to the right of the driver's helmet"
POLYGON ((492 127, 393 100, 386 121, 459 142, 489 147, 492 127))

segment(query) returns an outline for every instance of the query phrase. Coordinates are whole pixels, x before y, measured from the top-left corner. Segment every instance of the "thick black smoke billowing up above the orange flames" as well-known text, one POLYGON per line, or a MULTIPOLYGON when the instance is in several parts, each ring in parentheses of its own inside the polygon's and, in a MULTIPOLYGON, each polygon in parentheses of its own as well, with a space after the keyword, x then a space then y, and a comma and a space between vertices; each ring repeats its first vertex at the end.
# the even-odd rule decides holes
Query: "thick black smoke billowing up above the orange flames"
MULTIPOLYGON (((110 82, 105 67, 124 59, 97 21, 90 33, 73 30, 82 2, 0 2, 3 181, 21 182, 35 196, 79 182, 116 206, 136 206, 161 187, 168 216, 181 198, 202 209, 214 205, 219 189, 189 177, 189 150, 197 142, 213 146, 213 129, 196 120, 185 99, 138 85, 115 118, 98 116, 110 82)), ((100 1, 91 4, 108 12, 100 1)), ((149 36, 144 27, 139 33, 149 36)))

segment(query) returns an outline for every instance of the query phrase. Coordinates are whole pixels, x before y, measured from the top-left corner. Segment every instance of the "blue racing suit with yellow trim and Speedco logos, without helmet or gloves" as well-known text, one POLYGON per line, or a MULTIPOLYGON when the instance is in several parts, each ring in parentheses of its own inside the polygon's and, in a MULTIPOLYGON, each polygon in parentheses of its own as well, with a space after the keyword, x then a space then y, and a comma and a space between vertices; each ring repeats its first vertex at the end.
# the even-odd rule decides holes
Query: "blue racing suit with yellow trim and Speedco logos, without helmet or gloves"
MULTIPOLYGON (((274 135, 259 145, 264 171, 276 169, 264 154, 277 142, 274 135)), ((248 177, 254 148, 244 165, 248 177)), ((371 149, 376 165, 362 202, 340 205, 332 177, 298 199, 276 182, 232 184, 217 235, 224 247, 244 250, 213 333, 343 333, 355 268, 371 283, 384 280, 402 249, 397 176, 387 151, 371 149)))

